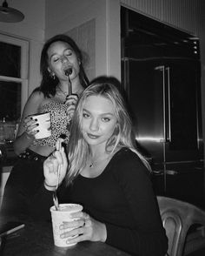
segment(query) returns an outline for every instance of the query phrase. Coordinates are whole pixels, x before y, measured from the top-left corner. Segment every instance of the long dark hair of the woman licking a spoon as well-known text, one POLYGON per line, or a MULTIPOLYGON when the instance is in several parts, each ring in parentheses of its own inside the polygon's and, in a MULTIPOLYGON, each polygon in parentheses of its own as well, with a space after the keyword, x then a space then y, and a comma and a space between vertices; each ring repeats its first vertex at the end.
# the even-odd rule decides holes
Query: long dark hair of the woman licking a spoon
POLYGON ((50 45, 55 42, 64 42, 69 44, 69 46, 75 51, 77 58, 80 61, 80 83, 83 85, 84 88, 86 88, 89 84, 89 78, 86 76, 84 68, 83 68, 83 54, 82 51, 79 49, 79 47, 76 45, 75 41, 63 34, 56 35, 55 37, 51 37, 46 43, 43 45, 43 50, 41 54, 41 62, 40 62, 40 72, 42 75, 42 81, 38 88, 36 88, 35 91, 42 91, 44 97, 51 98, 56 95, 56 85, 59 83, 58 78, 53 79, 50 77, 50 72, 48 71, 49 67, 49 57, 48 57, 48 49, 50 48, 50 45))

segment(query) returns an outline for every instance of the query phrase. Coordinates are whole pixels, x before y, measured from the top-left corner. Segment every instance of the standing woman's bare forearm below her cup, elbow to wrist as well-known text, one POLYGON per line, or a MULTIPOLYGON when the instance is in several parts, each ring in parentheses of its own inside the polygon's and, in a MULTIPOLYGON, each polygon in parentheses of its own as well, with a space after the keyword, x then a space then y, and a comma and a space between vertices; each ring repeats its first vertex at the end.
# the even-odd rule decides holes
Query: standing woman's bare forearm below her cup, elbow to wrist
POLYGON ((34 141, 34 137, 29 136, 26 132, 23 132, 18 136, 14 142, 14 152, 19 155, 24 152, 34 141))

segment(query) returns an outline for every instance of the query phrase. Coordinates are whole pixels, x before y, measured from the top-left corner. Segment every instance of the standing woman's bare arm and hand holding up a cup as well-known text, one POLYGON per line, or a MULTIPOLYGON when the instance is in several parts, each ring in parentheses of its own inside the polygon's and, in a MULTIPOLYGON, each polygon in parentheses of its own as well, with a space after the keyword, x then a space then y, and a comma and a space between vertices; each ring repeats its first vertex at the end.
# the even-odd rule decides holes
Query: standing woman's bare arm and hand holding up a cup
POLYGON ((17 155, 25 151, 25 149, 29 147, 34 141, 34 135, 37 131, 32 130, 36 127, 36 121, 31 120, 27 117, 31 114, 35 114, 38 112, 39 106, 42 103, 42 101, 43 93, 40 91, 36 91, 30 95, 30 98, 24 106, 21 123, 17 131, 17 138, 14 142, 14 152, 17 155), (25 126, 28 127, 26 130, 25 126))

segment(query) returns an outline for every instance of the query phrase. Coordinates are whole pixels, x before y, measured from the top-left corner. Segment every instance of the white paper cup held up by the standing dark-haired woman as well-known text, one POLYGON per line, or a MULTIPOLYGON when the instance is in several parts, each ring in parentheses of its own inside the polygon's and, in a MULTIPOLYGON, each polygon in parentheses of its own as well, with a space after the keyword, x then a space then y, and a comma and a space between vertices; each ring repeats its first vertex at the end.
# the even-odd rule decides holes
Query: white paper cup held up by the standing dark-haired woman
POLYGON ((35 134, 35 138, 47 138, 51 135, 51 127, 50 127, 50 112, 36 114, 31 116, 33 119, 36 119, 36 123, 39 124, 34 128, 34 130, 38 130, 35 134))

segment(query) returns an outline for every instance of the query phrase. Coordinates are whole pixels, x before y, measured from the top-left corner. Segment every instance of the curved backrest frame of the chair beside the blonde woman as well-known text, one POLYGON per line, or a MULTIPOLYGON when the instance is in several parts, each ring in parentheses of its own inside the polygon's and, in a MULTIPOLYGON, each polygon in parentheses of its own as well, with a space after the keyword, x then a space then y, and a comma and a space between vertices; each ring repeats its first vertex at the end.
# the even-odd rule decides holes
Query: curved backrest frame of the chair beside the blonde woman
POLYGON ((157 196, 157 201, 169 239, 169 256, 182 256, 189 227, 205 226, 205 212, 178 199, 157 196))

